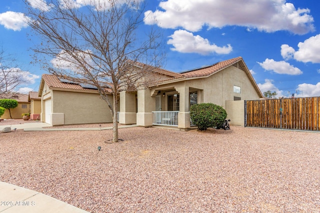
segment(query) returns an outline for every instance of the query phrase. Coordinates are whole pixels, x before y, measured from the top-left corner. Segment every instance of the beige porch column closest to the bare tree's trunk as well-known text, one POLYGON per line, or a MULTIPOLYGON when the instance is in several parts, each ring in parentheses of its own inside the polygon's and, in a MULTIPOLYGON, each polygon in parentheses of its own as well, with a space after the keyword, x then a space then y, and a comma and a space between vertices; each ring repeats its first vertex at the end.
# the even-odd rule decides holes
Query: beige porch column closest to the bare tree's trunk
POLYGON ((120 92, 120 113, 119 124, 135 124, 136 123, 136 103, 135 93, 120 92))

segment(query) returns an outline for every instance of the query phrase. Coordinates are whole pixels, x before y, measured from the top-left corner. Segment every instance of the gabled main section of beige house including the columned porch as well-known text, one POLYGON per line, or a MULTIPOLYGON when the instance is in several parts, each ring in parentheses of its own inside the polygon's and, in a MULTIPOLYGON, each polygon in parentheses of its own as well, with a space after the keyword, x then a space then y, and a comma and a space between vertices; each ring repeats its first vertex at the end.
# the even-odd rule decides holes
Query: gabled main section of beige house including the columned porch
POLYGON ((176 74, 135 93, 120 92, 119 123, 187 129, 193 104, 226 108, 226 101, 263 98, 242 57, 176 74))

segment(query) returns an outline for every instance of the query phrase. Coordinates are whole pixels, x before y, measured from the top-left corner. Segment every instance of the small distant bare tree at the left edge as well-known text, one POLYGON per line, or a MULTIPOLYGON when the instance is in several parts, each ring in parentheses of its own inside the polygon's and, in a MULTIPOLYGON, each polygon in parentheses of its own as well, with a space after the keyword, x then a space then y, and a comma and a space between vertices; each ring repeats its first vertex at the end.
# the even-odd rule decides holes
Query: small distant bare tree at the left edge
POLYGON ((25 71, 18 68, 12 55, 0 51, 0 98, 11 98, 17 86, 26 83, 23 76, 25 71))

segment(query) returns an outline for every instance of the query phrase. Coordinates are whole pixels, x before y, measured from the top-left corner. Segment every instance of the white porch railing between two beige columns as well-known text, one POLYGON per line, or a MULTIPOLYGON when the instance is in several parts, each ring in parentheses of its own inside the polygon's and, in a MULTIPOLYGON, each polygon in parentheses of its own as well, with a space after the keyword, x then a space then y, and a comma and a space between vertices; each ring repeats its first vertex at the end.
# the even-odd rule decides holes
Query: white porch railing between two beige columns
POLYGON ((161 126, 178 126, 179 111, 154 111, 153 125, 161 126))

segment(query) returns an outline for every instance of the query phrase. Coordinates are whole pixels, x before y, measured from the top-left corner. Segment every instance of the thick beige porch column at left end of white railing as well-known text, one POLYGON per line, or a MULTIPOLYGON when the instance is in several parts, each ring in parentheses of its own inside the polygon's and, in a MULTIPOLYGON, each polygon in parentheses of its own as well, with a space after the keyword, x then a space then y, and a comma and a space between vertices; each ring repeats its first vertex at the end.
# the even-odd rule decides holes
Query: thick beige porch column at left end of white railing
POLYGON ((152 126, 152 111, 155 110, 155 97, 151 97, 149 89, 142 89, 137 91, 137 101, 136 125, 152 126))

